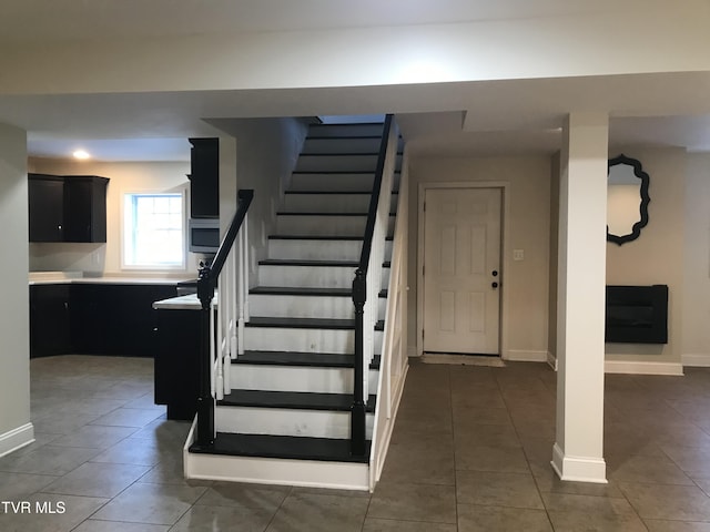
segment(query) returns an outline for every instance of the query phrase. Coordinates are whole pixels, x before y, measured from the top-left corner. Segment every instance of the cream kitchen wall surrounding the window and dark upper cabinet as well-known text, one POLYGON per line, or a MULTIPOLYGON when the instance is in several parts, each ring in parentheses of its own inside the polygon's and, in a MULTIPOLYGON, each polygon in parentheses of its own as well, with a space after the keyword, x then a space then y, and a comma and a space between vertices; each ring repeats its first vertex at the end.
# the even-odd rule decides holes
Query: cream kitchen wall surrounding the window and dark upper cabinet
MULTIPOLYGON (((187 155, 189 156, 189 155, 187 155)), ((51 158, 30 160, 30 171, 57 175, 100 175, 109 177, 106 192, 106 243, 32 243, 30 272, 72 270, 110 275, 121 272, 121 204, 126 192, 187 191, 190 163, 99 163, 51 158)), ((189 208, 189 196, 185 208, 189 208)), ((196 274, 201 255, 187 254, 186 269, 176 276, 196 274)), ((134 272, 134 270, 131 270, 134 272)), ((153 272, 155 273, 155 272, 153 272)))

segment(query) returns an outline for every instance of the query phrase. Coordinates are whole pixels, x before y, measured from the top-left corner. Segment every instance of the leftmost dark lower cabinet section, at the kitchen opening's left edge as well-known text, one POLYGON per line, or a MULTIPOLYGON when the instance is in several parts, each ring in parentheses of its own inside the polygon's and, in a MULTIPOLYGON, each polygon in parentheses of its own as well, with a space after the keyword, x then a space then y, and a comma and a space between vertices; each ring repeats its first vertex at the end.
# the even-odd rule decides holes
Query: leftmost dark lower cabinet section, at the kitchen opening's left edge
POLYGON ((30 285, 30 358, 70 352, 70 285, 30 285))

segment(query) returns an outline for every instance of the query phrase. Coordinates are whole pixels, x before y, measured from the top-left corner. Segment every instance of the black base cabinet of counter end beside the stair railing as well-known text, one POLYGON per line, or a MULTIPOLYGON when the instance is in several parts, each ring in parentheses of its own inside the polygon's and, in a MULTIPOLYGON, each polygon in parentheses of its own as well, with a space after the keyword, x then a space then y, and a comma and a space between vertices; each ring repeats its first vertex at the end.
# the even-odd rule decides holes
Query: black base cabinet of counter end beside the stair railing
POLYGON ((168 419, 195 416, 200 392, 200 310, 161 309, 155 350, 155 405, 168 407, 168 419))

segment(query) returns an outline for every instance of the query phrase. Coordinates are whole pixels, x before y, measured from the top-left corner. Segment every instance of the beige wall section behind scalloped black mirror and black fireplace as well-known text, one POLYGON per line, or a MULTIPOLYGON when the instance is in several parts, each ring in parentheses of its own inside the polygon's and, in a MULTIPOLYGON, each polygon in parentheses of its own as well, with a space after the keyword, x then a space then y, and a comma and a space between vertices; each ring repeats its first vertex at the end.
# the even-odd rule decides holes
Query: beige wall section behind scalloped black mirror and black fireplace
MULTIPOLYGON (((608 285, 668 285, 668 344, 607 344, 607 361, 681 362, 686 225, 686 151, 615 146, 649 174, 649 222, 638 239, 607 243, 608 285)), ((696 213, 693 216, 699 215, 696 213)))

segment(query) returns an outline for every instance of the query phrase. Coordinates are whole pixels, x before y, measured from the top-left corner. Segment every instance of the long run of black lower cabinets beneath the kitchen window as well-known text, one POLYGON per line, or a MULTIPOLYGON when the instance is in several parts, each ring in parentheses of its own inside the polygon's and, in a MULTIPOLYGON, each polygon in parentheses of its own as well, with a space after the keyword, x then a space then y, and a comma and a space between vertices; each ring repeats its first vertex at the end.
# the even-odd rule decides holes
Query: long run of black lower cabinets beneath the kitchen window
POLYGON ((175 285, 72 283, 30 286, 30 357, 115 355, 153 357, 153 301, 175 285))

